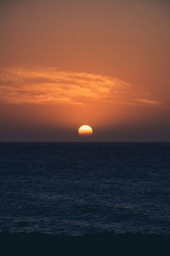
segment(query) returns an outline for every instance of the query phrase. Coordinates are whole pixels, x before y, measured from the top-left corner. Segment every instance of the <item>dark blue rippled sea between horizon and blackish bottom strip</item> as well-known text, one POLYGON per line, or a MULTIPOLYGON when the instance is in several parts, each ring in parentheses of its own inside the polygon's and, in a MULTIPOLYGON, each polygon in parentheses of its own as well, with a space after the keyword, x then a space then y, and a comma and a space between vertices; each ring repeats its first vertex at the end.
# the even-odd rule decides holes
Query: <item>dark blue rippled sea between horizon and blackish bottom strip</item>
POLYGON ((0 232, 170 234, 170 143, 0 143, 0 232))

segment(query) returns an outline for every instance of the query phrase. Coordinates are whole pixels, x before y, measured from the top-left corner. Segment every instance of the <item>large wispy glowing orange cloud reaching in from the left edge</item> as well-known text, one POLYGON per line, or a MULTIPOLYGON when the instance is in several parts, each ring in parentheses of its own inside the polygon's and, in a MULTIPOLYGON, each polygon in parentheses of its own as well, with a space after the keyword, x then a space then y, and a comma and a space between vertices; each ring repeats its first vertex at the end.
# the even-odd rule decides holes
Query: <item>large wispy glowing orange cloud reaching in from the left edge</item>
POLYGON ((3 67, 0 71, 0 100, 14 104, 116 102, 130 87, 120 79, 54 68, 3 67))

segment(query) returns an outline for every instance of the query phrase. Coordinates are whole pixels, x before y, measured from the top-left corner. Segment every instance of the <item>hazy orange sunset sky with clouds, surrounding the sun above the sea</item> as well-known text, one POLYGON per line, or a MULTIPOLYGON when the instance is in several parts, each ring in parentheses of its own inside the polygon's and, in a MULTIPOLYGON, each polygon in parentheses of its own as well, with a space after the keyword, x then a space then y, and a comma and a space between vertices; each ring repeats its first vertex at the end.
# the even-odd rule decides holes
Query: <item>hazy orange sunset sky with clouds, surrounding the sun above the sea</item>
POLYGON ((170 3, 1 0, 0 141, 170 142, 170 3))

